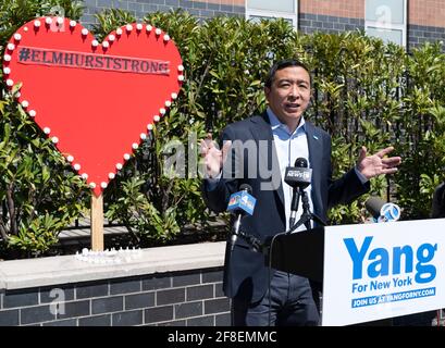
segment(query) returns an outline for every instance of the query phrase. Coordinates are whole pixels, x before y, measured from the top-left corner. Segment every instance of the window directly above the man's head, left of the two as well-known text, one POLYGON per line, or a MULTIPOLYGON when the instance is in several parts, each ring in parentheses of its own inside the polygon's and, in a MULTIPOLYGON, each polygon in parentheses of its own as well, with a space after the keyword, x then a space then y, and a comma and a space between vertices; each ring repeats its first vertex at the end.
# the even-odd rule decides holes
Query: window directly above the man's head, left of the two
POLYGON ((259 21, 261 18, 284 18, 298 27, 297 0, 246 0, 246 18, 259 21))

